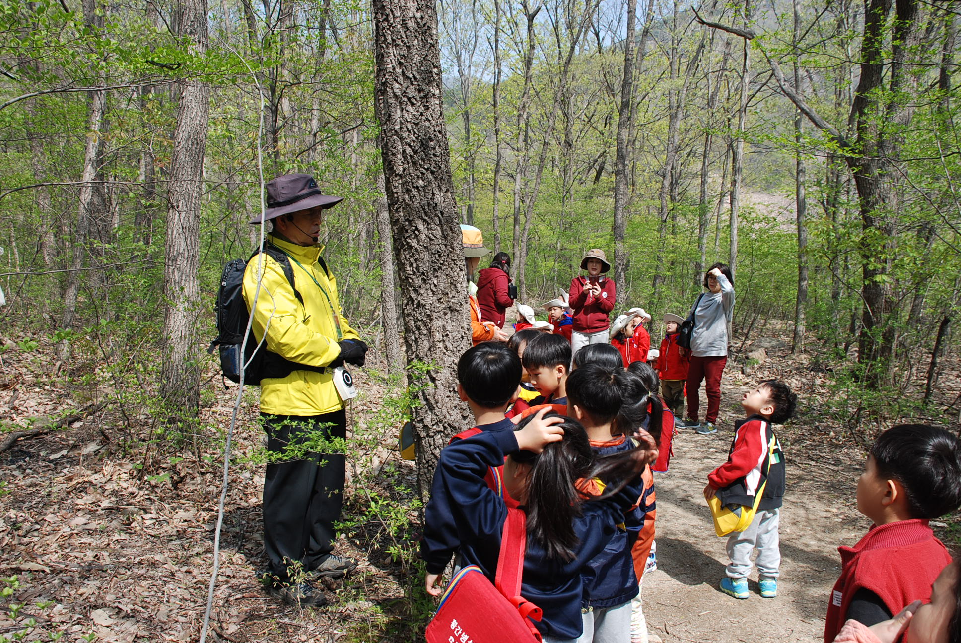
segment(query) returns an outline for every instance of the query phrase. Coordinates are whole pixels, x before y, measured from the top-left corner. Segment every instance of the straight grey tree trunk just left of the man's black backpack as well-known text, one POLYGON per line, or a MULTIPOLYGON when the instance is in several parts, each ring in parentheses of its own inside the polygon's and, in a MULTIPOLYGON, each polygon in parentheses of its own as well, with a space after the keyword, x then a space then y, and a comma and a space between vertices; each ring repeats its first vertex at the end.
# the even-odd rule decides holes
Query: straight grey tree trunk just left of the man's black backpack
MULTIPOLYGON (((207 51, 207 0, 183 0, 178 34, 194 56, 207 51)), ((197 313, 200 286, 200 207, 204 193, 204 153, 210 89, 184 79, 177 106, 170 160, 170 187, 163 268, 163 365, 160 395, 175 416, 195 416, 200 405, 197 313)))

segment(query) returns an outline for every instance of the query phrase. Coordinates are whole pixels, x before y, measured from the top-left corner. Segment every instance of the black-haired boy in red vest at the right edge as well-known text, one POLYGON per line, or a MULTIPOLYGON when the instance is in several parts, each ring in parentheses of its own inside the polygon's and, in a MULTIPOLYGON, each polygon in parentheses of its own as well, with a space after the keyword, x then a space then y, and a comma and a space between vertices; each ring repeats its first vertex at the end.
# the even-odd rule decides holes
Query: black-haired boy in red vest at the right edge
POLYGON ((875 525, 853 547, 838 548, 841 578, 827 605, 827 643, 848 619, 872 626, 930 596, 951 558, 927 521, 959 506, 961 442, 953 433, 902 424, 877 437, 857 481, 857 510, 875 525))

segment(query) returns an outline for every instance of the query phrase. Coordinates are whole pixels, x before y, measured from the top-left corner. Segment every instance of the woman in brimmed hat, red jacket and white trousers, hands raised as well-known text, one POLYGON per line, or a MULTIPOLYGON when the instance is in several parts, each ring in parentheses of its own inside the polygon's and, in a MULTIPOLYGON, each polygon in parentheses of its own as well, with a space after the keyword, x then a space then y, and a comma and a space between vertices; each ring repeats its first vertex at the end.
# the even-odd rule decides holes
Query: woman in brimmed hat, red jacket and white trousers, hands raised
POLYGON ((607 328, 610 326, 607 315, 614 309, 617 295, 614 281, 604 277, 610 270, 610 263, 603 250, 594 248, 587 251, 580 261, 580 269, 586 270, 587 276, 571 280, 569 297, 571 309, 574 310, 572 354, 577 354, 587 344, 607 343, 607 328))

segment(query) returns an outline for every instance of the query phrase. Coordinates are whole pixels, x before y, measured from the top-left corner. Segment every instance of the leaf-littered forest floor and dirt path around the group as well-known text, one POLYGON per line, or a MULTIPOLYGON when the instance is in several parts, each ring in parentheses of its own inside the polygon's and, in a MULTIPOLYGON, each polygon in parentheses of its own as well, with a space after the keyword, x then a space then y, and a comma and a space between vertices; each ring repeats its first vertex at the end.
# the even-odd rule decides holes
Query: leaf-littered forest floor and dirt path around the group
MULTIPOLYGON (((838 574, 836 548, 870 526, 855 509, 854 488, 873 430, 856 422, 832 426, 831 417, 853 411, 815 359, 769 353, 749 375, 728 363, 718 433, 679 433, 671 469, 656 479, 658 568, 645 580, 644 599, 649 629, 664 641, 820 640, 838 574), (785 380, 801 397, 799 417, 778 432, 788 463, 779 596, 761 599, 752 583, 750 600, 735 601, 717 589, 726 540, 714 535, 702 488, 707 472, 727 457, 742 391, 768 377, 785 380)), ((37 418, 87 408, 103 392, 52 378, 48 357, 42 349, 5 357, 4 431, 24 428, 31 417, 37 426, 37 418)), ((411 555, 418 529, 413 468, 396 453, 395 433, 371 419, 386 406, 384 384, 363 372, 357 381, 364 393, 350 415, 355 435, 367 432, 368 439, 352 458, 344 511, 351 525, 336 548, 360 560, 357 573, 329 583, 331 605, 319 609, 283 606, 260 587, 263 467, 256 398, 249 394, 234 436, 209 641, 422 640, 432 603, 419 589, 411 555)), ((942 385, 954 399, 957 377, 942 385)), ((163 440, 147 440, 149 415, 130 415, 117 403, 0 454, 0 643, 198 640, 222 438, 236 390, 214 388, 205 396, 203 439, 192 448, 171 451, 163 440)), ((935 531, 956 547, 961 525, 939 522, 935 531)))

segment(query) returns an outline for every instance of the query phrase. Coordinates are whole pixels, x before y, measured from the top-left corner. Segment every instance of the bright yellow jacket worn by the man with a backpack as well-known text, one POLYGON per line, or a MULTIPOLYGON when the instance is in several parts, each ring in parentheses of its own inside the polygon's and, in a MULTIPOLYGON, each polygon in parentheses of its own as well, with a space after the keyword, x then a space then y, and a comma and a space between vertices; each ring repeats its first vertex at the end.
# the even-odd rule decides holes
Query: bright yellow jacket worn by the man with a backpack
MULTIPOLYGON (((301 364, 326 366, 340 355, 338 341, 359 336, 340 312, 336 280, 317 261, 323 249, 295 245, 275 235, 267 238, 290 257, 294 283, 304 304, 294 296, 277 261, 258 255, 247 264, 243 277, 243 298, 254 317, 254 335, 261 339, 266 328, 266 346, 272 353, 301 364), (252 309, 261 260, 265 261, 263 279, 257 309, 252 309)), ((294 371, 285 378, 260 382, 260 410, 264 413, 320 415, 340 408, 343 403, 330 373, 294 371)))

